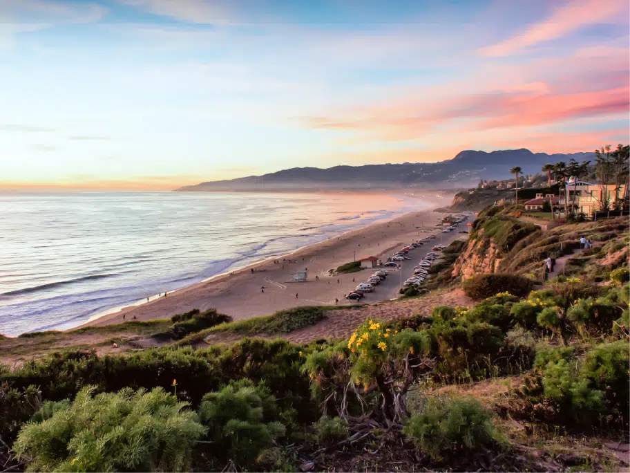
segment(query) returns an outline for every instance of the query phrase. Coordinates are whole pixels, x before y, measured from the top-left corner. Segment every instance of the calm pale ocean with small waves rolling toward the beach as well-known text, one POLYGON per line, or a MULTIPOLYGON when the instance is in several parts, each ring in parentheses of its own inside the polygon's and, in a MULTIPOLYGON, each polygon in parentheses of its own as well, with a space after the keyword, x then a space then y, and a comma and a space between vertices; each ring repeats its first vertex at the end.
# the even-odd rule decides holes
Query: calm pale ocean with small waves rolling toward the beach
POLYGON ((0 194, 0 333, 72 328, 426 207, 370 194, 0 194))

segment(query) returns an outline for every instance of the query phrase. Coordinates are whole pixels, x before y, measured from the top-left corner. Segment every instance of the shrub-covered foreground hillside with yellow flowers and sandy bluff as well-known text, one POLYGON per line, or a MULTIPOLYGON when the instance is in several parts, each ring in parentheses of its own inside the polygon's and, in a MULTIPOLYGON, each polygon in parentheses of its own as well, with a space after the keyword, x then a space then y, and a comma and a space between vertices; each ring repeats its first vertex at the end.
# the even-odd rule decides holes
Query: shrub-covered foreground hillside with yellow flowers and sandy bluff
POLYGON ((332 308, 245 322, 195 312, 156 325, 171 341, 158 349, 66 350, 3 367, 2 465, 619 471, 630 428, 630 218, 543 231, 517 211, 481 212, 437 270, 470 306, 395 317, 406 302, 389 302, 379 307, 392 317, 365 317, 342 340, 245 337, 202 349, 194 347, 210 333, 283 335, 325 323, 332 308), (569 255, 581 235, 597 244, 569 256, 565 274, 538 277, 547 255, 569 255), (464 277, 473 266, 484 270, 464 277), (178 340, 203 324, 212 325, 178 340))

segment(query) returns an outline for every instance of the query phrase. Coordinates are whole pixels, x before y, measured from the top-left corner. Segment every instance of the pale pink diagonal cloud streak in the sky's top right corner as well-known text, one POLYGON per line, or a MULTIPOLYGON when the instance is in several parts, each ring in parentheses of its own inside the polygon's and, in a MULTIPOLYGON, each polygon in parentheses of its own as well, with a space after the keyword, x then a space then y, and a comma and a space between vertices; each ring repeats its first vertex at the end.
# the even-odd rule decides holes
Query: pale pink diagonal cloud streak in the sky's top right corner
POLYGON ((627 6, 626 0, 573 0, 523 33, 486 46, 480 52, 489 57, 508 56, 528 46, 562 37, 582 26, 600 23, 619 14, 627 6))

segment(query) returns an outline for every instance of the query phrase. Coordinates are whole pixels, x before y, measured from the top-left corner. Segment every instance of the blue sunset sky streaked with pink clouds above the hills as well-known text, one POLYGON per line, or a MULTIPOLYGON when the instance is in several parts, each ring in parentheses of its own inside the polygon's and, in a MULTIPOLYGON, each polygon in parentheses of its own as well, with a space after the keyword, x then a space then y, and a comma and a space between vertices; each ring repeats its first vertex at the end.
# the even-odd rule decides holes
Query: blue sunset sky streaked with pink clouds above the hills
POLYGON ((0 189, 630 141, 628 0, 0 0, 0 189))

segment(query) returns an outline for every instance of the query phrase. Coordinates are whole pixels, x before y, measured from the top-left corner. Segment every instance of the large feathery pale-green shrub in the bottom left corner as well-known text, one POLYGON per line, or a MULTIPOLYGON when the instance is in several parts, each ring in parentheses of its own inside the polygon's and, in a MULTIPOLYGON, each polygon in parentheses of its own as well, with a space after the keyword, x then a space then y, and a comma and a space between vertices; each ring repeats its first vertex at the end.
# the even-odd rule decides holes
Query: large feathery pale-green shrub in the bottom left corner
POLYGON ((185 402, 160 388, 93 391, 85 387, 70 407, 21 429, 14 449, 32 459, 28 471, 189 470, 193 445, 206 429, 185 402))

